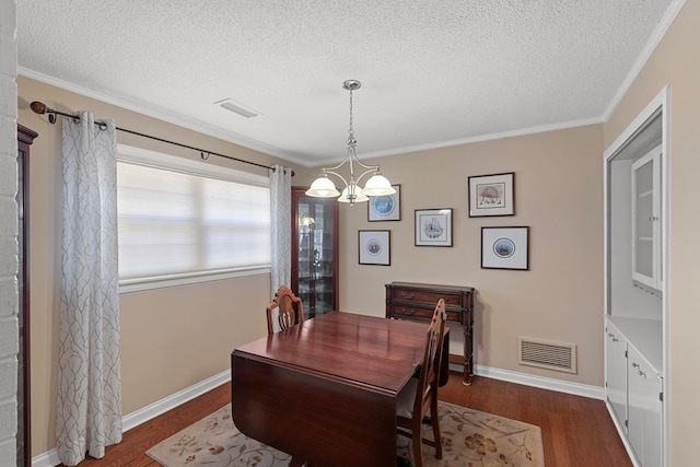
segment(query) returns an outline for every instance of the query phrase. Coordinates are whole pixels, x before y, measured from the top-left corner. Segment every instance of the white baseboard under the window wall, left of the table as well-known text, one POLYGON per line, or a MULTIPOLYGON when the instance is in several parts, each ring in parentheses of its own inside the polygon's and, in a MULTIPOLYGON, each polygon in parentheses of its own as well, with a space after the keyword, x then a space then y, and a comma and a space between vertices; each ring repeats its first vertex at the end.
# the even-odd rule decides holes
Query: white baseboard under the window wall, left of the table
MULTIPOLYGON (((230 380, 231 371, 225 370, 202 382, 186 387, 180 392, 177 392, 161 400, 156 400, 155 402, 145 406, 135 412, 128 413, 121 418, 122 430, 125 432, 129 431, 132 428, 136 428, 141 423, 144 423, 160 416, 161 413, 165 413, 166 411, 172 410, 175 407, 187 402, 188 400, 199 397, 202 394, 221 386, 230 380)), ((61 460, 58 457, 58 451, 56 451, 56 448, 32 458, 32 467, 55 467, 60 463, 61 460)))

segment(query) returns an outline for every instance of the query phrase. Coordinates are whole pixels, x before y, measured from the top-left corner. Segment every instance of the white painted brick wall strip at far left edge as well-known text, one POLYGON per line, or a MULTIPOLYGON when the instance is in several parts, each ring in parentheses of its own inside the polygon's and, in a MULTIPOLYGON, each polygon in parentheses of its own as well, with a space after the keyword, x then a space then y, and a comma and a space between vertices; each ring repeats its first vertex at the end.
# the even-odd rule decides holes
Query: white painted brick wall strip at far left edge
POLYGON ((0 1, 0 459, 16 457, 16 3, 0 1))

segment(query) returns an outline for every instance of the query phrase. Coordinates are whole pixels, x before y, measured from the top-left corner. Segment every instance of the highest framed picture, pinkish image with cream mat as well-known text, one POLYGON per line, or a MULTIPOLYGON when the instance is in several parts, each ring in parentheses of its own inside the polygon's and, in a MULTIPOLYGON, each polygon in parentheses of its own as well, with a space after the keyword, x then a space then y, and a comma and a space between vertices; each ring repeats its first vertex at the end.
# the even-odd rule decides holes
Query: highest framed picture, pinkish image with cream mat
POLYGON ((469 217, 514 215, 515 173, 471 176, 469 180, 469 217))

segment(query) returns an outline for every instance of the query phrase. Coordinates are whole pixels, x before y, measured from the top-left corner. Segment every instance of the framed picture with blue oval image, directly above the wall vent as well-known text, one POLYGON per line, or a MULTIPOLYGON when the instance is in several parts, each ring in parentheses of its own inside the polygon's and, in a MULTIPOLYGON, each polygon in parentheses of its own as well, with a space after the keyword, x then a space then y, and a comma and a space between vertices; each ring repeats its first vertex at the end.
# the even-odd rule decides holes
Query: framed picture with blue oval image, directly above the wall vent
POLYGON ((481 227, 482 269, 529 269, 529 227, 481 227))

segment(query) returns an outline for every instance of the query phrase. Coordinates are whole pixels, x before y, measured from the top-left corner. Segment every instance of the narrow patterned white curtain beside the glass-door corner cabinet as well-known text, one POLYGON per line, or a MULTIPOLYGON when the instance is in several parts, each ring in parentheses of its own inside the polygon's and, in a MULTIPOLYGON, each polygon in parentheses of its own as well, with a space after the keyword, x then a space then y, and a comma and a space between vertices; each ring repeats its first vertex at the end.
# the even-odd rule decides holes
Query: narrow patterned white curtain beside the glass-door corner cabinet
POLYGON ((275 165, 270 171, 272 221, 272 293, 292 279, 292 171, 275 165))

